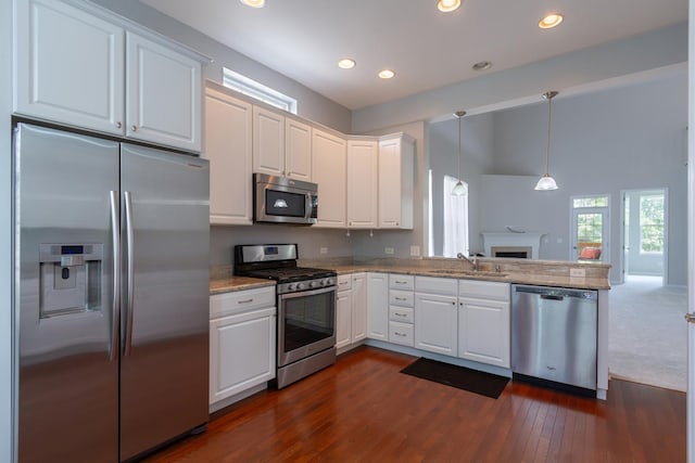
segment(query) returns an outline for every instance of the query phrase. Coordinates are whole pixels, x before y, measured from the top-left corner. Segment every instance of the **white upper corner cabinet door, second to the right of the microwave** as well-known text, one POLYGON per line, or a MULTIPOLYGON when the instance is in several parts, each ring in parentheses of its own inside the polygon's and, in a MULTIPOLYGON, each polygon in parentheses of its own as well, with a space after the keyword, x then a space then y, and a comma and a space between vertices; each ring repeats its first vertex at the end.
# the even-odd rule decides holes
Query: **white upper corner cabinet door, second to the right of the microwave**
POLYGON ((378 154, 375 140, 348 140, 348 228, 377 228, 378 154))

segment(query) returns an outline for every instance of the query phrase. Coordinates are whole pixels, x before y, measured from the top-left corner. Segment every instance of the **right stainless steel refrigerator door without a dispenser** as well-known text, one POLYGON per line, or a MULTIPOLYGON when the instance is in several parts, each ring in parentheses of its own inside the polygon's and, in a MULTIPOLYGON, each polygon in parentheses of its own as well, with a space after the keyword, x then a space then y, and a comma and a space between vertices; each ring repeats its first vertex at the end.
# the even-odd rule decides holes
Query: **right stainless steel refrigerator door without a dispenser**
POLYGON ((210 206, 205 159, 121 153, 122 255, 132 256, 122 265, 127 460, 207 422, 210 206))

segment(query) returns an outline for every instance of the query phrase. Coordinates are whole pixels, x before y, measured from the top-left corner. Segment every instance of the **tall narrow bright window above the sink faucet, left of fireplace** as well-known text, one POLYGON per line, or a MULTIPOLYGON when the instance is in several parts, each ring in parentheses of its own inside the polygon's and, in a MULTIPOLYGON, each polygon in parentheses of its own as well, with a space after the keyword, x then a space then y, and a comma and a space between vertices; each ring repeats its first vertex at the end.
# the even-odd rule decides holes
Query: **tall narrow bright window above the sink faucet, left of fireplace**
POLYGON ((456 183, 457 178, 444 176, 444 257, 468 256, 468 195, 454 196, 456 183))

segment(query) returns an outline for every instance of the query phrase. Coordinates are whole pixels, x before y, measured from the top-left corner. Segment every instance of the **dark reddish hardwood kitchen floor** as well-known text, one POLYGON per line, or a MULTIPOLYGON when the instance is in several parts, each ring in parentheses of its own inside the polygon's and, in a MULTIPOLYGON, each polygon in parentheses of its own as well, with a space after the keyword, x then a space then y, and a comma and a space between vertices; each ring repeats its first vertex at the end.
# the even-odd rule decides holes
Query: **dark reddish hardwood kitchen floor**
POLYGON ((401 374, 413 360, 359 347, 147 461, 685 461, 683 393, 611 381, 602 401, 509 382, 494 400, 401 374))

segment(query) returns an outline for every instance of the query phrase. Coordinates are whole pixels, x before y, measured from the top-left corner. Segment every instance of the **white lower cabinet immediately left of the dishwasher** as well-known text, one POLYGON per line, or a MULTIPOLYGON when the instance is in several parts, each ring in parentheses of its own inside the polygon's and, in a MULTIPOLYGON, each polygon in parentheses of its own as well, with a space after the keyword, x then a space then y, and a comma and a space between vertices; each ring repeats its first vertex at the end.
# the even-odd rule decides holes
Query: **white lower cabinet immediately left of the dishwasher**
POLYGON ((509 284, 459 281, 458 357, 510 368, 509 284))

